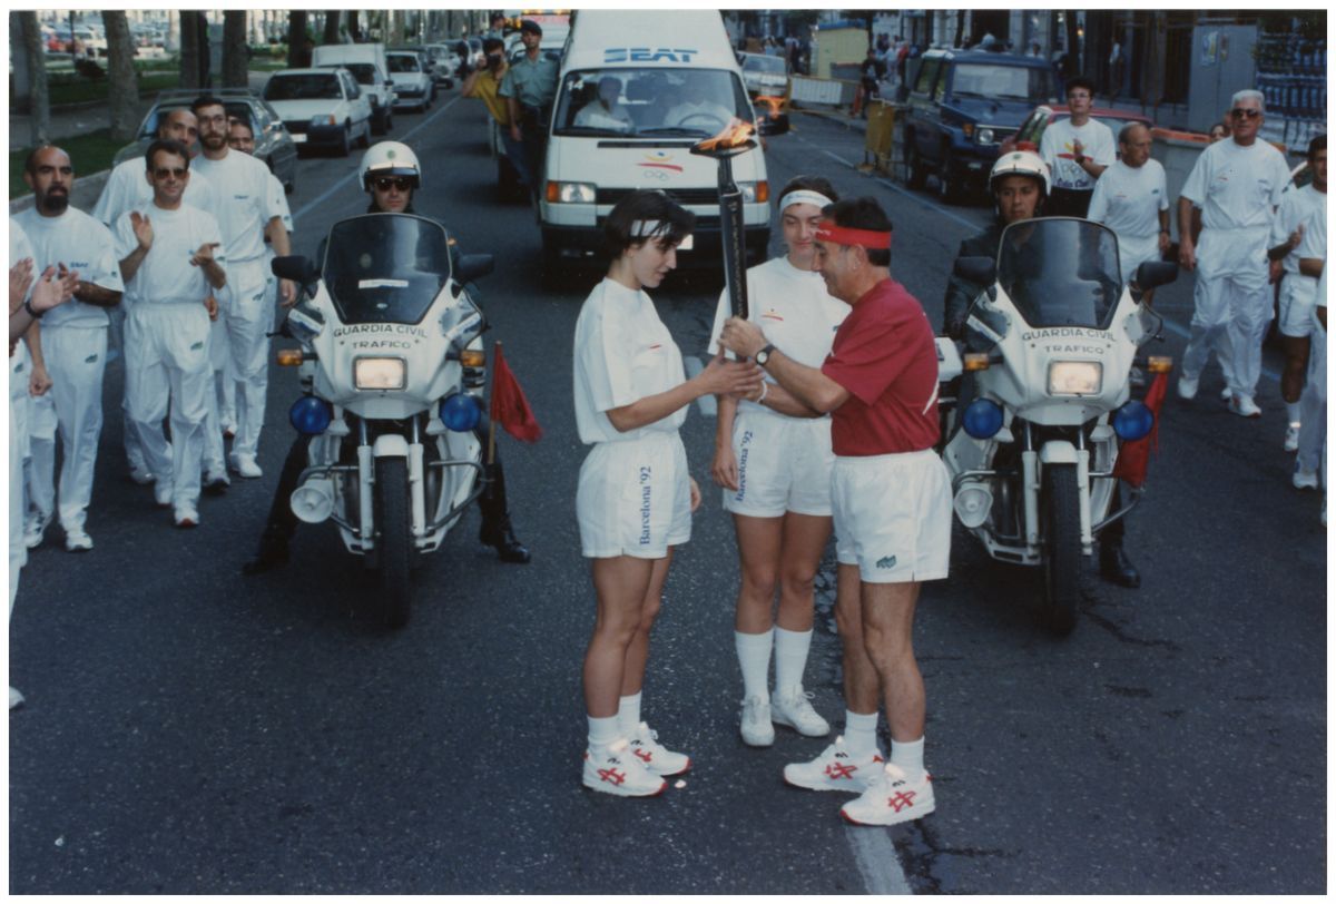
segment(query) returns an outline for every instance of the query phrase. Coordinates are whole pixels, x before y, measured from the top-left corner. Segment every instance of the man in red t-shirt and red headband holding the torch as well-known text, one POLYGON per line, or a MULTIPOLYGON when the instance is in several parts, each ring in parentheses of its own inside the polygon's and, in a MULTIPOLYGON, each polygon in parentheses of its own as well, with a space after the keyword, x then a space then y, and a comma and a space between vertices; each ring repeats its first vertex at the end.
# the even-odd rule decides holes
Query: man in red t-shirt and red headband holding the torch
POLYGON ((737 318, 720 343, 755 358, 814 417, 831 414, 844 734, 812 762, 784 766, 784 780, 860 793, 840 809, 846 820, 894 825, 935 807, 912 629, 921 584, 945 578, 951 553, 951 482, 933 451, 937 347, 923 307, 891 279, 891 222, 880 204, 851 198, 822 212, 816 270, 830 294, 854 307, 826 363, 799 365, 737 318), (891 729, 884 766, 879 698, 891 729))

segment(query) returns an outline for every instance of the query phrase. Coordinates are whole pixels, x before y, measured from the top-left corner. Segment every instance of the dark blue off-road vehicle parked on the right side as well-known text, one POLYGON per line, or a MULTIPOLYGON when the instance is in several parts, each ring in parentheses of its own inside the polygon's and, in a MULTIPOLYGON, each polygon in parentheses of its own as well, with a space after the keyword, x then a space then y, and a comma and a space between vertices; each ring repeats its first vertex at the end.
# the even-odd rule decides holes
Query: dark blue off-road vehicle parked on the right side
POLYGON ((910 81, 904 162, 910 186, 937 175, 938 192, 955 199, 987 180, 1002 142, 1037 103, 1057 103, 1053 65, 1033 56, 983 51, 927 51, 910 81))

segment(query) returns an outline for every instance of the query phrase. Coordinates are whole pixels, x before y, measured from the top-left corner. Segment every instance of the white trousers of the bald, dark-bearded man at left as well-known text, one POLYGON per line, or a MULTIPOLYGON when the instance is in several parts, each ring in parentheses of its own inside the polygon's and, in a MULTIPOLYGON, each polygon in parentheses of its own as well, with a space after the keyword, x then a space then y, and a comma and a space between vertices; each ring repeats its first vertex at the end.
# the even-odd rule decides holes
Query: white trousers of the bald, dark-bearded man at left
POLYGON ((61 326, 41 331, 51 390, 32 399, 28 422, 32 461, 28 498, 49 513, 56 502, 56 434, 60 434, 60 526, 83 529, 92 499, 98 437, 102 435, 102 378, 107 369, 106 327, 61 326))

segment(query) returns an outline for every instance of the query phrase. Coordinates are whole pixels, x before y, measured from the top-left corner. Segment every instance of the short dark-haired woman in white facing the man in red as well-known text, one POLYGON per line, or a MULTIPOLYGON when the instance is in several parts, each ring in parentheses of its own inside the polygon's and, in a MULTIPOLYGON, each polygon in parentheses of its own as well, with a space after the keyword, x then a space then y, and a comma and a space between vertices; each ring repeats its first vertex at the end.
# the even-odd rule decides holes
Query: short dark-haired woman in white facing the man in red
POLYGON ((623 797, 657 795, 664 776, 691 768, 640 718, 649 629, 672 549, 689 539, 700 505, 677 429, 701 395, 755 395, 762 382, 759 367, 721 355, 685 379, 681 353, 644 291, 677 266, 695 220, 663 192, 619 202, 604 223, 612 266, 576 322, 576 425, 593 446, 580 467, 576 514, 599 600, 584 661, 584 784, 623 797))

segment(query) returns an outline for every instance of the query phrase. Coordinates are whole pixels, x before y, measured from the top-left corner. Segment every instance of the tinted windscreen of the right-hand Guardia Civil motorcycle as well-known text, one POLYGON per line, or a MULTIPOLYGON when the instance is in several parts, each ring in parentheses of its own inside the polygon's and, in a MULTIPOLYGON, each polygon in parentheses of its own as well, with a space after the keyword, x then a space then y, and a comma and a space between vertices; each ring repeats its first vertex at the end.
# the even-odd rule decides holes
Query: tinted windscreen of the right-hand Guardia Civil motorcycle
POLYGON ((1033 327, 1106 330, 1122 294, 1118 238, 1065 216, 1013 223, 998 246, 998 286, 1033 327))

